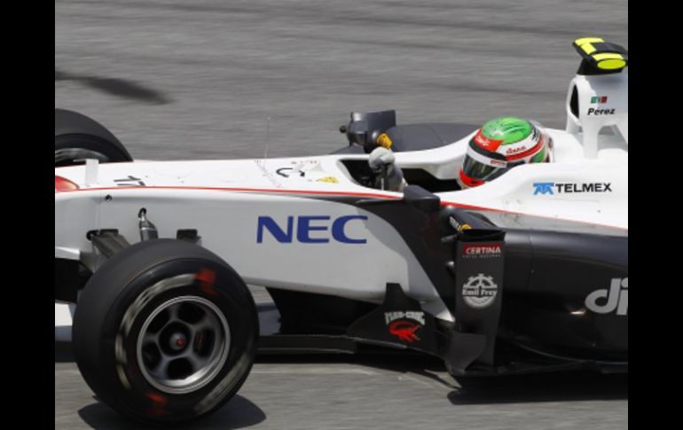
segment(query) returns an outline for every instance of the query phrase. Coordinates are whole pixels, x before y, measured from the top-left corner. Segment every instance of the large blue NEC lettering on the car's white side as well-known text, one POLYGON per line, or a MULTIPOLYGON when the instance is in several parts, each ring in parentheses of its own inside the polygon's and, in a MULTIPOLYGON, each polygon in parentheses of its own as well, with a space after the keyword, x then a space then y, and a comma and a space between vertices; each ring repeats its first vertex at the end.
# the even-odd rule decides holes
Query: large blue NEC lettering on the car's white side
POLYGON ((256 225, 256 243, 263 243, 266 232, 279 243, 326 244, 331 241, 362 245, 365 238, 350 238, 346 226, 350 222, 367 221, 365 215, 343 215, 332 218, 328 215, 287 216, 287 223, 282 225, 271 216, 258 217, 256 225))

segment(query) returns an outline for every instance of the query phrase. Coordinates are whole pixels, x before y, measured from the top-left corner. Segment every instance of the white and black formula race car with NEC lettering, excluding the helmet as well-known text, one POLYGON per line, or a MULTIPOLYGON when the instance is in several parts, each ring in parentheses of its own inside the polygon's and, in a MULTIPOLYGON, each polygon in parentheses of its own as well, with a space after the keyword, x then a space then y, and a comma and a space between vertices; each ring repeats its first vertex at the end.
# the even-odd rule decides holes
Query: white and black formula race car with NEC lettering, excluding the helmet
POLYGON ((257 346, 408 349, 454 376, 628 371, 627 53, 574 46, 547 162, 467 189, 477 129, 394 111, 352 113, 330 155, 134 162, 55 110, 56 339, 99 399, 153 423, 219 408, 257 346))

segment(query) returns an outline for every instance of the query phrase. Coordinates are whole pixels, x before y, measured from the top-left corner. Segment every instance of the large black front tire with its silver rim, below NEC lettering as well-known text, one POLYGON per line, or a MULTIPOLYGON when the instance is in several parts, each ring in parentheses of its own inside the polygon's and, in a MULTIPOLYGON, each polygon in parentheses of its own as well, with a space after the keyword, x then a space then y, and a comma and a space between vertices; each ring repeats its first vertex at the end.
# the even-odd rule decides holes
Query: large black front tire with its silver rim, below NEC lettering
POLYGON ((254 363, 255 303, 235 270, 189 242, 130 246, 95 272, 73 325, 76 364, 98 399, 146 424, 220 408, 254 363))

